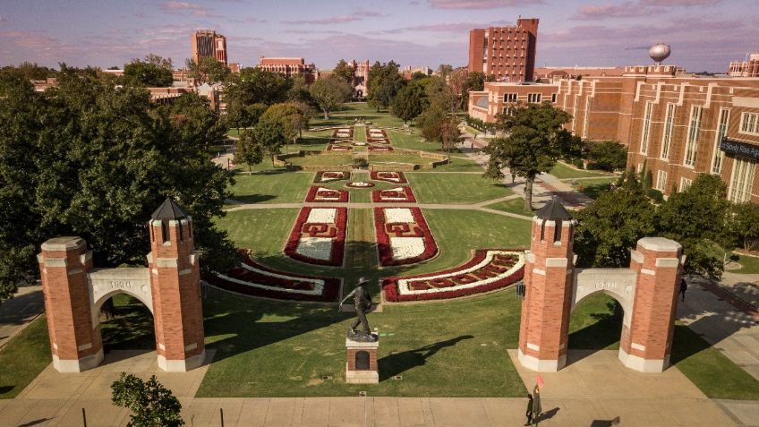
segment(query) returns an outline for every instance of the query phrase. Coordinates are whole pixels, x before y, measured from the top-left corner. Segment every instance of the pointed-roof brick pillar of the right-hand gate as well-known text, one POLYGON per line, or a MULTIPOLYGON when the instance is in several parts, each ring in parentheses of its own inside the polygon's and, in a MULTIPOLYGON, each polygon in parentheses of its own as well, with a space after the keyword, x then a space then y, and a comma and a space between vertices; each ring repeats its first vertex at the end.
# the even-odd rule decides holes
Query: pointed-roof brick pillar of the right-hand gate
POLYGON ((575 224, 557 198, 533 218, 532 242, 524 265, 518 352, 519 362, 533 371, 559 371, 567 363, 575 224))

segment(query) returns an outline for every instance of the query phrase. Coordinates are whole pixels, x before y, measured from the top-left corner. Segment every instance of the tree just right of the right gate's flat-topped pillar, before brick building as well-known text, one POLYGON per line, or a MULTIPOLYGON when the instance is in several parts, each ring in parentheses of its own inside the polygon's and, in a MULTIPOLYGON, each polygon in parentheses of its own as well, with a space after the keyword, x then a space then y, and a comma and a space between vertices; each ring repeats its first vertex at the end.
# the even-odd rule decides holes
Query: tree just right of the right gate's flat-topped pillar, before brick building
POLYGON ((719 279, 724 266, 713 246, 732 249, 727 186, 717 175, 698 175, 685 192, 669 194, 659 207, 659 234, 682 244, 685 270, 719 279))

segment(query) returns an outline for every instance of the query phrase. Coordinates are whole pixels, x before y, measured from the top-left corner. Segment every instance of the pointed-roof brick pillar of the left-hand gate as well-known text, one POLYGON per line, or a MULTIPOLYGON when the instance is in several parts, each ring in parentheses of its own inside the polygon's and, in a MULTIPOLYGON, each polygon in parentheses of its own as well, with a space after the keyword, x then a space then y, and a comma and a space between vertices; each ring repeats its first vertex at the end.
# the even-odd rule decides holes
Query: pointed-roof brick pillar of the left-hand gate
POLYGON ((166 201, 149 223, 148 254, 158 366, 183 372, 205 360, 200 266, 192 244, 192 218, 166 201))

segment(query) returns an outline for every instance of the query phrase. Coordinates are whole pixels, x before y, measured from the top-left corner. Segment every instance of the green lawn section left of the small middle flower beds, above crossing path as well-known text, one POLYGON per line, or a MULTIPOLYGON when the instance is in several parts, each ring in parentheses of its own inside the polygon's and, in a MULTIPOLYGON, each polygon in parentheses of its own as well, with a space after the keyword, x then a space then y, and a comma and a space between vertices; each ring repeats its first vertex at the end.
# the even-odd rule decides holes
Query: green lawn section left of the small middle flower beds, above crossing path
POLYGON ((235 175, 232 199, 244 203, 293 203, 303 201, 313 174, 281 172, 235 175))

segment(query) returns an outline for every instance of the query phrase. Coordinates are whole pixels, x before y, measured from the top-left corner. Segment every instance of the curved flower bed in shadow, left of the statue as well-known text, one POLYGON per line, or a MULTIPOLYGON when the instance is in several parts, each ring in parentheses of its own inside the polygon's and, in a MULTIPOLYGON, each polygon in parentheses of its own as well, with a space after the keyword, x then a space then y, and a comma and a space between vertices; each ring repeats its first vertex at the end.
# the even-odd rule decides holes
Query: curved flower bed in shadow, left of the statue
POLYGON ((278 300, 336 302, 340 297, 339 278, 316 278, 269 269, 246 256, 239 267, 216 274, 209 282, 222 289, 245 295, 278 300))

